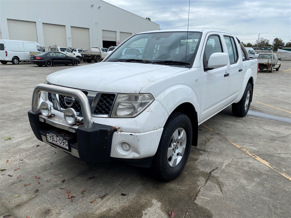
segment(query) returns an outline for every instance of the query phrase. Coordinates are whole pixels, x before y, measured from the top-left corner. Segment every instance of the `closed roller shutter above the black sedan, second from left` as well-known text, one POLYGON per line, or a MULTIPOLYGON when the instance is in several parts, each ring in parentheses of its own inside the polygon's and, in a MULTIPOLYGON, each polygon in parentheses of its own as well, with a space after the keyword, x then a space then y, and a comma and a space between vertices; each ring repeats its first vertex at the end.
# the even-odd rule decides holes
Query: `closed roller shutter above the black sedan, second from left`
POLYGON ((67 47, 65 26, 42 23, 42 28, 46 48, 49 45, 67 47))

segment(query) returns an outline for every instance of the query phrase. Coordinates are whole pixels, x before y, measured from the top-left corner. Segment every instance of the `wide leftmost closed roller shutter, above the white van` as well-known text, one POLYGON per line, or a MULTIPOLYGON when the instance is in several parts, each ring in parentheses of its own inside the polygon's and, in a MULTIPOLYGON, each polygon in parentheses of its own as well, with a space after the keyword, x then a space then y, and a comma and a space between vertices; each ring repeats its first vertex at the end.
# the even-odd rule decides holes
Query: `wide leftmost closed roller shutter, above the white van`
POLYGON ((10 40, 38 42, 35 22, 7 19, 7 25, 10 40))

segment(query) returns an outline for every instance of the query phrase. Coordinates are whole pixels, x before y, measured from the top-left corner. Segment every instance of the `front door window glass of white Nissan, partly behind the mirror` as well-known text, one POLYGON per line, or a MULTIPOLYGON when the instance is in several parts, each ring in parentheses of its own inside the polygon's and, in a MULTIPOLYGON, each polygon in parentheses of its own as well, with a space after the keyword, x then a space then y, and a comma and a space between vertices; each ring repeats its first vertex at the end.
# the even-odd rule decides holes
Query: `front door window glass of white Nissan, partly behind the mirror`
POLYGON ((207 66, 211 54, 223 52, 219 36, 209 36, 204 50, 203 65, 207 66))

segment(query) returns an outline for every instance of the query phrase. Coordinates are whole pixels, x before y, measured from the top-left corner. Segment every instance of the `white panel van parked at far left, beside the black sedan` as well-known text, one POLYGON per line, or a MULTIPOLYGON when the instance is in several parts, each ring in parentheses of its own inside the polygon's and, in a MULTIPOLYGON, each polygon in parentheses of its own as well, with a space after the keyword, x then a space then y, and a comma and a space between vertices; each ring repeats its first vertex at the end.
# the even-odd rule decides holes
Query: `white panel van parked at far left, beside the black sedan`
POLYGON ((0 62, 19 64, 20 61, 29 61, 31 55, 36 55, 45 49, 37 42, 0 40, 0 62))

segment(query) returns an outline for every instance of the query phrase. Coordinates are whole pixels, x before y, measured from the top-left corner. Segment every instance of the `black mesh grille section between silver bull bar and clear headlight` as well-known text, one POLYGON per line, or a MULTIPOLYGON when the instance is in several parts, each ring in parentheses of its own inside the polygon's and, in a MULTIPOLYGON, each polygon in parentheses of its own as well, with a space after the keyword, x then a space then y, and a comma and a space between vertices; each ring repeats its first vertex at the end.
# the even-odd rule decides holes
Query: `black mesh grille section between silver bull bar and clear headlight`
POLYGON ((115 99, 115 94, 103 93, 96 105, 94 114, 109 114, 115 99))

